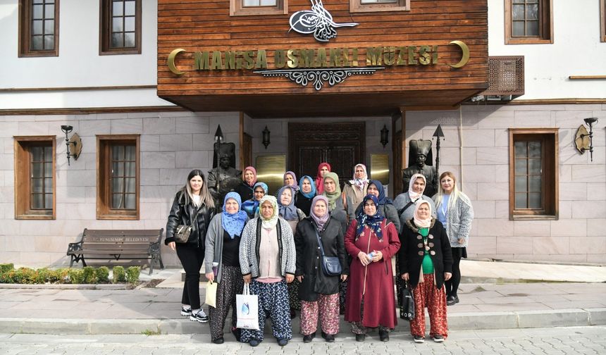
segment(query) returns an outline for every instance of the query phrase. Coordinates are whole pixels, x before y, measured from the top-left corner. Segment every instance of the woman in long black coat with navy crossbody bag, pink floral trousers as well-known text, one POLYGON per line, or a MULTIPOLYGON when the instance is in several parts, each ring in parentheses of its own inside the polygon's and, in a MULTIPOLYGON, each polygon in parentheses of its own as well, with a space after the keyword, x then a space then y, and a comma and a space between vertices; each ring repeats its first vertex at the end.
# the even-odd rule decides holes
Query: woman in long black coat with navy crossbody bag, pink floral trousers
POLYGON ((335 341, 339 332, 339 280, 347 280, 349 267, 343 243, 343 232, 338 220, 330 217, 328 199, 314 197, 311 215, 297 225, 295 232, 297 249, 297 280, 301 299, 301 333, 303 342, 311 342, 316 336, 318 319, 322 337, 335 341), (326 275, 322 268, 322 243, 326 256, 337 256, 341 264, 340 275, 326 275))

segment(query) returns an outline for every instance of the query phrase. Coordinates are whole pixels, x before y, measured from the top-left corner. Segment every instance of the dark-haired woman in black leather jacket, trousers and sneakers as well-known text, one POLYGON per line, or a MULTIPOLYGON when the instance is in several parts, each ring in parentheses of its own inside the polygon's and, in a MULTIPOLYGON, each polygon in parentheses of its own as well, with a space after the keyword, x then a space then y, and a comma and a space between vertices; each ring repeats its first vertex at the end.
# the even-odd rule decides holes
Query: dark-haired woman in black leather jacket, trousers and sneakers
POLYGON ((204 261, 206 229, 214 216, 215 205, 202 170, 192 170, 187 175, 187 183, 177 192, 166 223, 164 244, 177 251, 177 256, 185 269, 185 285, 181 303, 181 316, 205 323, 209 321, 200 307, 200 268, 204 261), (195 218, 195 220, 193 220, 195 218), (189 239, 185 243, 175 242, 175 230, 178 225, 192 227, 189 239))

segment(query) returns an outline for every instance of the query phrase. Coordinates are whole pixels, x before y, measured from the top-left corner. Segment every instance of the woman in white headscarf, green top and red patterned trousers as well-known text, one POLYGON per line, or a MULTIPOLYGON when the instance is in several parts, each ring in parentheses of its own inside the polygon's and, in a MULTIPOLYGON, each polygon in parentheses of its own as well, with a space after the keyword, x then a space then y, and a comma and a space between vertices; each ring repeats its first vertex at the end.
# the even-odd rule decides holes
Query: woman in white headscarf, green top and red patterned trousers
POLYGON ((452 276, 452 252, 446 230, 431 216, 428 201, 416 202, 414 216, 402 227, 400 239, 400 277, 409 282, 414 295, 410 334, 414 342, 425 341, 427 308, 429 335, 434 342, 443 342, 448 336, 444 281, 452 276))

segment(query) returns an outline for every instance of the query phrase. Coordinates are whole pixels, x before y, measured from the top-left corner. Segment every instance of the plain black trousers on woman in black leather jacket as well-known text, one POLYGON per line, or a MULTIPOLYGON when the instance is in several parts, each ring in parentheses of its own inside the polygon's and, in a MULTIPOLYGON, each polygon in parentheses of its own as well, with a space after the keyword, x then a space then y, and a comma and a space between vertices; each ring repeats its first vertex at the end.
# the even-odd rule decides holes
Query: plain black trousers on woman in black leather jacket
POLYGON ((204 263, 204 248, 177 244, 177 256, 185 269, 182 304, 189 304, 192 309, 200 308, 200 269, 204 263))

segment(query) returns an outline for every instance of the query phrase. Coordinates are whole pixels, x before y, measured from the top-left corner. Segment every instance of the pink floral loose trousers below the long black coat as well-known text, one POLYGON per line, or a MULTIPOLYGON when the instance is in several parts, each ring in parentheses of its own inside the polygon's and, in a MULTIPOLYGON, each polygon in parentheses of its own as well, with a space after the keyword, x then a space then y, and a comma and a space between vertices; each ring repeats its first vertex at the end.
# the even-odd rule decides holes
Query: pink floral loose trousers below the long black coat
POLYGON ((317 301, 301 301, 301 334, 310 335, 318 328, 328 335, 339 332, 339 294, 320 294, 317 301))

